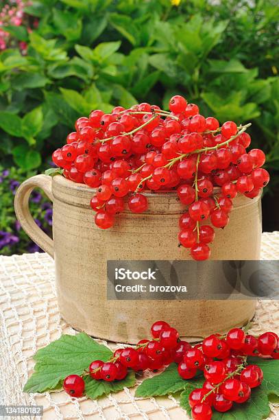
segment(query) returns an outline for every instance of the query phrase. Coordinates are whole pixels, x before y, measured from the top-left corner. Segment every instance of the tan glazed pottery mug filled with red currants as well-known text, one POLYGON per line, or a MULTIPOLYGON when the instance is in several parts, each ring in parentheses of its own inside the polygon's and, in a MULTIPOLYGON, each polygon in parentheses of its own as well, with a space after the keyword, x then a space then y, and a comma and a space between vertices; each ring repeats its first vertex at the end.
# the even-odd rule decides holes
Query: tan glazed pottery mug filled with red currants
MULTIPOLYGON (((107 299, 106 263, 110 259, 190 259, 178 247, 178 219, 185 207, 175 193, 148 195, 149 210, 126 210, 106 231, 95 226, 90 198, 95 191, 63 176, 36 175, 19 187, 15 211, 29 237, 56 265, 60 313, 75 329, 117 342, 136 343, 149 336, 149 327, 163 319, 187 338, 225 332, 254 316, 255 301, 125 301, 107 299), (53 202, 53 240, 41 231, 29 213, 32 189, 39 187, 53 202)), ((260 197, 234 198, 226 229, 216 229, 210 259, 259 259, 260 197)), ((199 263, 197 263, 199 264, 199 263)), ((208 273, 214 282, 214 273, 208 273)))

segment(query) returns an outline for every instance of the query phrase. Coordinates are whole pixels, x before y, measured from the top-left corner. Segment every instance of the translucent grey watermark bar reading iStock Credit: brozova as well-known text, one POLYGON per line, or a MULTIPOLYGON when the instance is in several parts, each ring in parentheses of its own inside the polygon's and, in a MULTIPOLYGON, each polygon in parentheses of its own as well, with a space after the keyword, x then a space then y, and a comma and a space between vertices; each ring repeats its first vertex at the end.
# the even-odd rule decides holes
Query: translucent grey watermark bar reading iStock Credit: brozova
POLYGON ((108 300, 279 299, 279 261, 107 262, 108 300))

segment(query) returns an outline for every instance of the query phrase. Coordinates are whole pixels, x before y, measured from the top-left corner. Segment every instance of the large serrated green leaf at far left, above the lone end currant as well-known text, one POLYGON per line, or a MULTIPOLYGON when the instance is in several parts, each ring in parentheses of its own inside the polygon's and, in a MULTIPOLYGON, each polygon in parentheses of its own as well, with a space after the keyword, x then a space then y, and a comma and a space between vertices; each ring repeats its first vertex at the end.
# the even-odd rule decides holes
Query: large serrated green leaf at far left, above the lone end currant
POLYGON ((108 347, 99 345, 85 333, 63 335, 34 355, 34 373, 25 384, 24 392, 43 393, 54 389, 66 376, 83 373, 93 360, 106 361, 111 356, 108 347))

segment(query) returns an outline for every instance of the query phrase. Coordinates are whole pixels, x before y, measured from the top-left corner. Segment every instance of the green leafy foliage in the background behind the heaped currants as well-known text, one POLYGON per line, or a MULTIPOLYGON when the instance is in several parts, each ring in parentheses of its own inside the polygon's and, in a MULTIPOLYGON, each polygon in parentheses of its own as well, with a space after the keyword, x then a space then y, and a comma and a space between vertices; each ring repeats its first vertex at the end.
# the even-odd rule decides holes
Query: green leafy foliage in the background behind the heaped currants
POLYGON ((40 0, 25 10, 38 27, 8 31, 28 44, 27 55, 0 54, 3 167, 44 170, 75 119, 93 108, 167 108, 180 93, 221 122, 252 121, 253 146, 265 150, 276 188, 276 0, 40 0))

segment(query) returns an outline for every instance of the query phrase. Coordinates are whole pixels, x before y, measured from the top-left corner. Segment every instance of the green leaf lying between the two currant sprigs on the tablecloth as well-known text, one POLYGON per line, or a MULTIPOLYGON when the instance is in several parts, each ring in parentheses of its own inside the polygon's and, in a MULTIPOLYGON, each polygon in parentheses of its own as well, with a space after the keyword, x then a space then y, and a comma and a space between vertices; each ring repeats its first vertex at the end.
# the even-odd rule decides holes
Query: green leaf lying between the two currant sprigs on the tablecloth
POLYGON ((168 395, 183 390, 186 384, 193 384, 198 388, 201 384, 200 376, 191 381, 183 380, 178 374, 178 365, 171 363, 160 375, 148 378, 136 389, 136 397, 154 397, 168 395))

